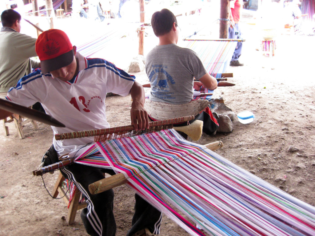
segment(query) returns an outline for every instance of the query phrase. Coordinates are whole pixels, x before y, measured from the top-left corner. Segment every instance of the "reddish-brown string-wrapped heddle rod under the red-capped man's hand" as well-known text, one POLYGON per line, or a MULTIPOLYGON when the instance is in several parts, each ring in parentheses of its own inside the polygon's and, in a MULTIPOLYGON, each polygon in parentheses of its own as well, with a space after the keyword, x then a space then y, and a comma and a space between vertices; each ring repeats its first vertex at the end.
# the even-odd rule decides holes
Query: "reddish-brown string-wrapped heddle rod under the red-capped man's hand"
MULTIPOLYGON (((188 115, 188 116, 171 118, 171 119, 166 119, 166 120, 152 121, 152 122, 149 122, 149 127, 176 124, 176 123, 181 123, 185 121, 191 121, 194 118, 195 116, 188 115)), ((104 135, 104 134, 126 132, 126 131, 132 131, 132 130, 135 130, 133 125, 112 127, 112 128, 106 128, 106 129, 85 130, 85 131, 78 131, 78 132, 55 134, 55 139, 63 140, 63 139, 70 139, 70 138, 83 138, 83 137, 98 136, 98 135, 104 135)))

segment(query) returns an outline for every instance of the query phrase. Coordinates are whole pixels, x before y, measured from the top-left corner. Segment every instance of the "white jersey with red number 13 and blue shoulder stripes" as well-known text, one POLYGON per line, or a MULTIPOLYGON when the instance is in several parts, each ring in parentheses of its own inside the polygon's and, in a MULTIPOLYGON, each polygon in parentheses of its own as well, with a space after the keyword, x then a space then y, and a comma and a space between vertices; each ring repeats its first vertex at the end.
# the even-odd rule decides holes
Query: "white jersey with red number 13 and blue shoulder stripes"
MULTIPOLYGON (((26 107, 40 102, 47 114, 66 126, 52 126, 54 134, 109 128, 106 121, 106 93, 128 95, 135 76, 130 76, 104 59, 87 59, 78 52, 76 57, 79 72, 71 81, 53 78, 50 73, 42 74, 37 69, 21 78, 16 87, 9 90, 6 98, 26 107)), ((63 155, 93 141, 93 137, 54 138, 53 144, 58 155, 63 155)))

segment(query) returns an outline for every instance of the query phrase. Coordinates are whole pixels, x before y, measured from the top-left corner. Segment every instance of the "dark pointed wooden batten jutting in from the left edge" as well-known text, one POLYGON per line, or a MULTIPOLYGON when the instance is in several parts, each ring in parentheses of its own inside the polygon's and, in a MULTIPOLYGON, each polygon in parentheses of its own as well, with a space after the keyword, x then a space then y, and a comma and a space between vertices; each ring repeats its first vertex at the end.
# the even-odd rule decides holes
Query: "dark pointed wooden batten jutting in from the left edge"
POLYGON ((8 101, 6 99, 0 99, 0 109, 12 112, 14 114, 22 115, 32 120, 39 121, 51 126, 66 127, 64 124, 57 121, 50 115, 47 115, 46 113, 25 106, 21 106, 20 104, 8 101))

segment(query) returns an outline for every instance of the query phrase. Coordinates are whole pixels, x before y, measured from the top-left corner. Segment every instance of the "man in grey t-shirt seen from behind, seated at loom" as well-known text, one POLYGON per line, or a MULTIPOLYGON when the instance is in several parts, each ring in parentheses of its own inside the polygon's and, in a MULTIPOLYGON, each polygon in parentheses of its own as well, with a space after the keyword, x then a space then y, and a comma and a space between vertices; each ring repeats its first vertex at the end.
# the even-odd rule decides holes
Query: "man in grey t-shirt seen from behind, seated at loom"
MULTIPOLYGON (((191 49, 176 45, 180 28, 171 11, 162 9, 155 12, 151 18, 151 25, 154 34, 159 38, 159 44, 146 57, 146 74, 151 84, 150 100, 168 104, 187 104, 193 99, 193 88, 197 91, 200 86, 210 90, 217 88, 217 80, 205 70, 198 55, 191 49), (194 78, 197 80, 195 83, 194 78)), ((209 109, 208 114, 218 126, 209 109)), ((204 114, 201 113, 197 119, 204 120, 204 114)), ((213 134, 216 129, 213 130, 204 124, 203 131, 213 134)))

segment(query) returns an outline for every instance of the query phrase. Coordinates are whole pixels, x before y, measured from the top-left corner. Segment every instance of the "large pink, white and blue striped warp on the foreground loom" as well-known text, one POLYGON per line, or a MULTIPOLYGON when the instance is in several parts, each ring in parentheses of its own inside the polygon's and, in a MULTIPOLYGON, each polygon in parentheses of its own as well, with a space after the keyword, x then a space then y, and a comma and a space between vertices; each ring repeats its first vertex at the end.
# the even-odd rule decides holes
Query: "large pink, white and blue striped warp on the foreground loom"
POLYGON ((75 162, 110 165, 129 176, 130 188, 191 235, 205 235, 195 224, 210 235, 315 235, 313 206, 173 129, 96 148, 102 154, 96 160, 83 155, 75 162))

